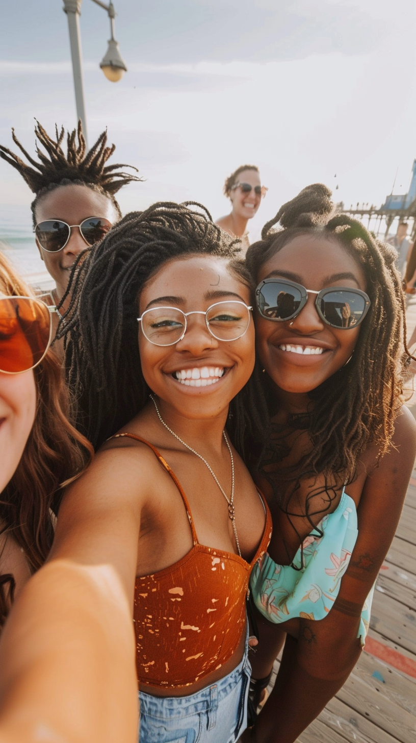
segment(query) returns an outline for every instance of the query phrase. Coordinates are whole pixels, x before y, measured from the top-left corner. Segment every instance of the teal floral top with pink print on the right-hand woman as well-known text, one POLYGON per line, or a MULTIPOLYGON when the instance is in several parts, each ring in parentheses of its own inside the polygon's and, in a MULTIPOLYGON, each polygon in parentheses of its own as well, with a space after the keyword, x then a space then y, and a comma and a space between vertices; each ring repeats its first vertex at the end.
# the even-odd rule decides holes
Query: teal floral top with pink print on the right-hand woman
MULTIPOLYGON (((342 490, 334 513, 319 523, 318 533, 307 536, 296 552, 293 565, 277 565, 264 553, 256 562, 250 577, 250 589, 257 609, 270 622, 278 624, 293 617, 323 619, 337 598, 341 578, 348 568, 351 552, 357 541, 357 509, 350 496, 342 490)), ((363 606, 358 637, 365 644, 370 621, 374 585, 363 606)))

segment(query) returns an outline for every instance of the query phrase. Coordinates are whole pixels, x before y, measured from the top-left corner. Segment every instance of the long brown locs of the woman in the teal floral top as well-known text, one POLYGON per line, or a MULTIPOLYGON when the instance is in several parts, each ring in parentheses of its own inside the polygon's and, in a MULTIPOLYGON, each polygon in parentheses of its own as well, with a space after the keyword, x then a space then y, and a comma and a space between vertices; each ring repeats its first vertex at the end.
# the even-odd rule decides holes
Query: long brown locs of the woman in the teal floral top
MULTIPOLYGON (((331 195, 322 184, 303 189, 264 225, 261 240, 247 250, 247 268, 257 283, 261 266, 297 236, 316 235, 335 241, 362 268, 371 299, 371 309, 360 328, 350 362, 309 393, 308 415, 297 426, 292 421, 293 428, 308 430, 311 447, 292 467, 279 469, 273 481, 267 476, 278 500, 282 498, 278 476, 281 483, 284 476, 286 486, 292 482, 292 494, 302 479, 318 473, 333 484, 337 476, 343 482, 352 481, 357 461, 370 444, 377 447, 380 458, 389 450, 394 419, 402 403, 400 354, 402 337, 406 348, 406 318, 395 251, 369 233, 360 221, 335 213, 331 195), (278 223, 280 227, 276 229, 278 223)), ((270 414, 272 409, 270 398, 270 414)), ((276 463, 287 453, 282 438, 273 445, 269 436, 261 469, 267 459, 276 463)), ((325 491, 331 489, 325 487, 325 491)), ((328 492, 328 507, 332 499, 328 492)), ((311 503, 307 502, 306 516, 311 515, 311 503)))

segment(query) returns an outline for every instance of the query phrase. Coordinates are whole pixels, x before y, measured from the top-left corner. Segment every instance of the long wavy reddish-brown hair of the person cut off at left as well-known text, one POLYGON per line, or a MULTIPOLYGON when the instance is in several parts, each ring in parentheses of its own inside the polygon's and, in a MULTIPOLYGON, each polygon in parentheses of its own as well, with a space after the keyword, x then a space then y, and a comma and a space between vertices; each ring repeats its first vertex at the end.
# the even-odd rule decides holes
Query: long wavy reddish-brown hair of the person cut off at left
MULTIPOLYGON (((7 296, 33 296, 1 252, 0 291, 7 296)), ((59 359, 51 349, 33 374, 36 417, 19 466, 0 493, 0 534, 13 536, 34 572, 51 549, 52 511, 59 502, 62 486, 79 476, 93 450, 68 420, 71 399, 59 359)), ((13 576, 0 575, 0 626, 13 600, 13 588, 13 576)))

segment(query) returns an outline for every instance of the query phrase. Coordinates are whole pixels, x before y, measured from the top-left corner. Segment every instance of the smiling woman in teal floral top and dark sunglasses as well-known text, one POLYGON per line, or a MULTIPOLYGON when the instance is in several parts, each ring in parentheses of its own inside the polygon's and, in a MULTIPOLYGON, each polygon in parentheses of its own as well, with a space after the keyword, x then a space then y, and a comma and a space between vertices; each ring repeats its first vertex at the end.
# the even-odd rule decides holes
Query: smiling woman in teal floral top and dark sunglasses
POLYGON ((416 453, 401 396, 395 257, 360 222, 334 213, 320 184, 285 204, 247 252, 270 413, 253 471, 273 516, 268 554, 250 580, 260 612, 255 706, 284 650, 244 742, 296 741, 365 643, 416 453))

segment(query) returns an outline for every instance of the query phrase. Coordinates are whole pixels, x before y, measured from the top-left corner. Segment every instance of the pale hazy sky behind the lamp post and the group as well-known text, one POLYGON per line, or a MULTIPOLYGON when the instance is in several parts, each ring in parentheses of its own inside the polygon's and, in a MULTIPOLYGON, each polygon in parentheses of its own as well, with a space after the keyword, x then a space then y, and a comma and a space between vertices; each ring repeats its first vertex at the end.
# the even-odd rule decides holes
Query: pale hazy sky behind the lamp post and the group
MULTIPOLYGON (((62 0, 19 0, 2 12, 0 143, 10 129, 33 153, 45 129, 77 122, 62 0)), ((414 0, 114 0, 128 67, 99 68, 108 17, 82 0, 88 139, 108 128, 114 162, 143 183, 120 192, 123 212, 153 201, 199 201, 227 213, 227 175, 255 163, 269 190, 256 236, 282 203, 323 182, 337 201, 383 204, 406 193, 416 158, 414 0)), ((30 190, 0 160, 0 204, 30 190)))

